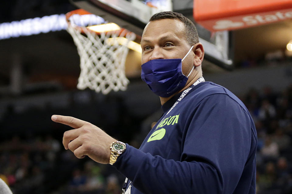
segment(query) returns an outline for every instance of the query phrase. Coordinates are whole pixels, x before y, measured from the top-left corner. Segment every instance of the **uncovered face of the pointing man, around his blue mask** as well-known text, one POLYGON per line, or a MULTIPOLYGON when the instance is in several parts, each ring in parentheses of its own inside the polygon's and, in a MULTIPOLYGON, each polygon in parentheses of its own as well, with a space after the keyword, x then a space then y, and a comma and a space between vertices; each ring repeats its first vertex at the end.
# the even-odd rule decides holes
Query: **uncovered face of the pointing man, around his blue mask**
MULTIPOLYGON (((186 41, 185 25, 177 19, 160 19, 149 22, 141 39, 142 64, 153 59, 182 59, 190 49, 186 41)), ((194 65, 194 53, 182 62, 187 75, 194 65)))

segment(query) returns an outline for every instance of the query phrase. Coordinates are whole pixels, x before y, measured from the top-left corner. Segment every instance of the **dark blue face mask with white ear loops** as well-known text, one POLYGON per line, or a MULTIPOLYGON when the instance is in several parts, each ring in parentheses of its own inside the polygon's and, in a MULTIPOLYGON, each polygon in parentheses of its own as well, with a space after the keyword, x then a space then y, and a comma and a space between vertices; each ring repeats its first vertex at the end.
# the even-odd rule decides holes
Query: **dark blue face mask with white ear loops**
MULTIPOLYGON (((193 46, 189 49, 189 52, 193 46)), ((186 56, 189 54, 186 54, 186 56)), ((141 65, 141 78, 152 92, 160 97, 169 97, 185 87, 188 76, 182 74, 183 59, 153 59, 141 65)))

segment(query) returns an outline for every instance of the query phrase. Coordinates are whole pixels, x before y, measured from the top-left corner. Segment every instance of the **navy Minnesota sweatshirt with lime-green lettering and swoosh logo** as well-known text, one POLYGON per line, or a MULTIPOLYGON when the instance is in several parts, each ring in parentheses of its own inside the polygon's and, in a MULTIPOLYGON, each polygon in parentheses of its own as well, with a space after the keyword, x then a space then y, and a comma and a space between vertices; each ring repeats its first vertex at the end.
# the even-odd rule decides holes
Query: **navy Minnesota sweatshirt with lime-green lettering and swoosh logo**
POLYGON ((162 105, 140 149, 127 144, 114 166, 131 194, 254 194, 257 136, 247 108, 212 82, 191 87, 162 105))

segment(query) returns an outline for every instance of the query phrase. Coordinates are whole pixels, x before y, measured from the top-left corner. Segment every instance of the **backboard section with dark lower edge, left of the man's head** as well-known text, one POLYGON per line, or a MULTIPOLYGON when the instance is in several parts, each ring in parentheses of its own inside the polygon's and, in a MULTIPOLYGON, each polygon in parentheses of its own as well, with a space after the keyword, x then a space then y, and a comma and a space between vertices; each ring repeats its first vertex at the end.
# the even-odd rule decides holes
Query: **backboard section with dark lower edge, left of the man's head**
POLYGON ((149 18, 162 11, 171 11, 171 0, 70 0, 79 8, 114 22, 137 35, 142 35, 149 18))

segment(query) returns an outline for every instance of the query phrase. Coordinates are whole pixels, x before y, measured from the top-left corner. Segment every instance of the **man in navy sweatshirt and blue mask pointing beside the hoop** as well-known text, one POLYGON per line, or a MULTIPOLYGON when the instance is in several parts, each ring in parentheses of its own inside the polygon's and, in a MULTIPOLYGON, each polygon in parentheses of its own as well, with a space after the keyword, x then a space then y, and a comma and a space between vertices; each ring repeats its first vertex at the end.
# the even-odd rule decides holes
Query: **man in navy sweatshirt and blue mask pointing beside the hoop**
POLYGON ((63 144, 78 158, 111 163, 129 180, 126 193, 255 193, 255 126, 243 103, 202 77, 203 45, 181 14, 153 15, 141 39, 142 79, 164 114, 140 149, 116 142, 72 117, 63 144), (114 149, 112 148, 114 147, 114 149))

